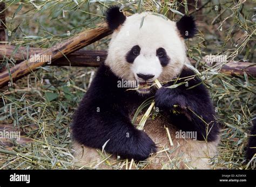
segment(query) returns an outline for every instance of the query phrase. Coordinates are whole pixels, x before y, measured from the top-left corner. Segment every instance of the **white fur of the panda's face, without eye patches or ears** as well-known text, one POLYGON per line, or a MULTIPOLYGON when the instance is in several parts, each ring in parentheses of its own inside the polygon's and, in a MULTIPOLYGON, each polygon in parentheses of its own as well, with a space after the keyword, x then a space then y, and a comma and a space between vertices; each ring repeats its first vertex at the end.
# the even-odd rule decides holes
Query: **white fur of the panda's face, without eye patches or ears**
POLYGON ((105 63, 125 80, 139 81, 136 74, 143 73, 155 75, 153 79, 158 78, 159 81, 170 81, 180 73, 186 61, 185 43, 176 23, 151 12, 143 12, 126 17, 124 24, 113 32, 105 63), (140 55, 133 63, 128 63, 125 56, 135 45, 140 47, 140 55), (160 47, 170 57, 166 67, 161 67, 156 56, 160 47))

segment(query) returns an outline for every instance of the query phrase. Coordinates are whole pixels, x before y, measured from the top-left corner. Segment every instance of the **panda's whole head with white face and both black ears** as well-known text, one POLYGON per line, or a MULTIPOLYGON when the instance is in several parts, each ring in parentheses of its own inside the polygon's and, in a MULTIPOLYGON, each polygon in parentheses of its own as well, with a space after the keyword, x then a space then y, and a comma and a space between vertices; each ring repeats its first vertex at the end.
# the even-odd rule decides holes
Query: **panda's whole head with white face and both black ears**
POLYGON ((105 64, 116 76, 143 85, 179 75, 187 60, 184 39, 196 33, 193 17, 184 16, 177 23, 152 12, 126 17, 113 6, 106 21, 113 34, 105 64))

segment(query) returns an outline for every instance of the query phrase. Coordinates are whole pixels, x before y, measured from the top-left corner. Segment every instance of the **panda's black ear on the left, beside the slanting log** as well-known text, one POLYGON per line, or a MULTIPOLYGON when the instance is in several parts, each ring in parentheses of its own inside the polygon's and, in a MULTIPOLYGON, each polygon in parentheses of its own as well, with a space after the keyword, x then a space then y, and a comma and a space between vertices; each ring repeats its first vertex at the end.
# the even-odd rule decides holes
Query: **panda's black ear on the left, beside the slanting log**
POLYGON ((119 25, 123 24, 126 17, 123 12, 119 11, 118 6, 111 6, 106 12, 106 22, 111 30, 115 30, 119 25))

